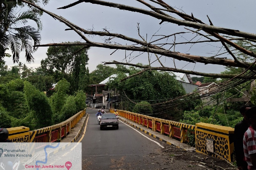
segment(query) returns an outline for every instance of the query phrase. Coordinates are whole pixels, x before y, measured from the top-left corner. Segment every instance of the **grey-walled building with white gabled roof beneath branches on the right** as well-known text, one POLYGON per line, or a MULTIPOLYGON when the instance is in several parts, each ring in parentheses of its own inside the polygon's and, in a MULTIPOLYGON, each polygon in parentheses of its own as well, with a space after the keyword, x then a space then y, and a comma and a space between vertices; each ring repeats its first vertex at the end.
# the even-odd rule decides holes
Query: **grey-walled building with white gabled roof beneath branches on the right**
POLYGON ((181 83, 181 85, 183 86, 187 94, 193 92, 198 87, 198 85, 193 83, 189 74, 177 73, 177 72, 171 72, 171 73, 175 75, 176 80, 181 83))

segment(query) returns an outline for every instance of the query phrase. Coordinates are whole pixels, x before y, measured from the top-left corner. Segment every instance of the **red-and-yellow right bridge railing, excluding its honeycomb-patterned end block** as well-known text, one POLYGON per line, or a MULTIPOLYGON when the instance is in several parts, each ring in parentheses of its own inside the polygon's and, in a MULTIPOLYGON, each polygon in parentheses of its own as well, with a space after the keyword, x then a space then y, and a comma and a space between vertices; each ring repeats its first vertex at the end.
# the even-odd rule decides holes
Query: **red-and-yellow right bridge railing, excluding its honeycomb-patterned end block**
MULTIPOLYGON (((114 113, 114 109, 110 109, 111 113, 114 113)), ((159 132, 164 135, 168 135, 170 138, 178 138, 183 143, 187 141, 187 130, 195 130, 196 126, 186 123, 175 122, 171 120, 159 119, 147 115, 128 111, 117 111, 120 116, 129 119, 135 123, 143 125, 153 131, 159 132)))

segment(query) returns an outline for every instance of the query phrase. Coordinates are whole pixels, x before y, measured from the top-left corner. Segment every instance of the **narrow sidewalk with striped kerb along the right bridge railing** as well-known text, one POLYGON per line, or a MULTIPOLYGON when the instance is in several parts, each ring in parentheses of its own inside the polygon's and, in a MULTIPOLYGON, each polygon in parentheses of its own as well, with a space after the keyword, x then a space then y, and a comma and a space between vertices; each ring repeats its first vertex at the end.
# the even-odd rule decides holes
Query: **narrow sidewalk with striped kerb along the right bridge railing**
POLYGON ((129 119, 126 119, 126 118, 123 118, 123 117, 119 117, 119 120, 122 120, 123 122, 133 126, 134 128, 137 128, 139 129, 140 131, 146 133, 147 135, 150 135, 160 141, 163 141, 169 145, 174 145, 174 146, 177 146, 177 147, 180 147, 186 151, 194 151, 196 150, 195 148, 191 147, 190 145, 187 145, 186 143, 181 143, 180 141, 176 140, 176 139, 173 139, 173 138, 170 138, 166 135, 162 135, 158 132, 155 132, 153 131, 152 129, 149 129, 149 128, 146 128, 145 126, 142 126, 142 125, 139 125, 129 119))

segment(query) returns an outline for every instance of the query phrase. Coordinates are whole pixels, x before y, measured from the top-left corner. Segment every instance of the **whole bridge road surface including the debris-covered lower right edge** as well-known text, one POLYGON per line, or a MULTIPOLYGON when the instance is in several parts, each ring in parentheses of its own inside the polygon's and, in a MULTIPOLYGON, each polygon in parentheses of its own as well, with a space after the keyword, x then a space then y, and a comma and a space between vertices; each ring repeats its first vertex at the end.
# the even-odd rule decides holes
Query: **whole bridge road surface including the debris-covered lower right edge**
POLYGON ((77 139, 82 143, 82 170, 195 170, 212 169, 212 163, 228 167, 220 159, 166 145, 122 121, 118 130, 100 130, 97 109, 86 109, 86 113, 85 135, 77 139))

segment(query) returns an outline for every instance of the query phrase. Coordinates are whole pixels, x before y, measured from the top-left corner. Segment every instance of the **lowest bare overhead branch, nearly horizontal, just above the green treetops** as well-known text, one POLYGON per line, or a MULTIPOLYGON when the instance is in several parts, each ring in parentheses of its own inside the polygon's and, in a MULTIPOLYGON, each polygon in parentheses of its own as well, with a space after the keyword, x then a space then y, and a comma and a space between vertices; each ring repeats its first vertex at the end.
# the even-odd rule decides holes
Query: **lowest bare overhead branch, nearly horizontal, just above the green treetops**
MULTIPOLYGON (((133 67, 138 67, 138 68, 143 68, 143 69, 150 69, 149 66, 142 66, 138 64, 132 64, 132 63, 122 63, 122 62, 104 62, 104 65, 109 65, 109 64, 120 64, 120 65, 127 65, 127 66, 133 66, 133 67)), ((185 73, 185 74, 192 74, 192 75, 199 75, 199 76, 204 76, 204 77, 212 77, 212 78, 228 78, 231 79, 237 74, 214 74, 214 73, 203 73, 203 72, 197 72, 197 71, 190 71, 190 70, 182 70, 182 69, 175 69, 171 67, 151 67, 151 70, 161 70, 161 71, 172 71, 172 72, 179 72, 179 73, 185 73)), ((256 77, 256 75, 255 75, 256 77)), ((243 75, 237 76, 237 79, 248 79, 247 77, 244 77, 243 75)), ((251 79, 251 78, 250 78, 251 79)))

